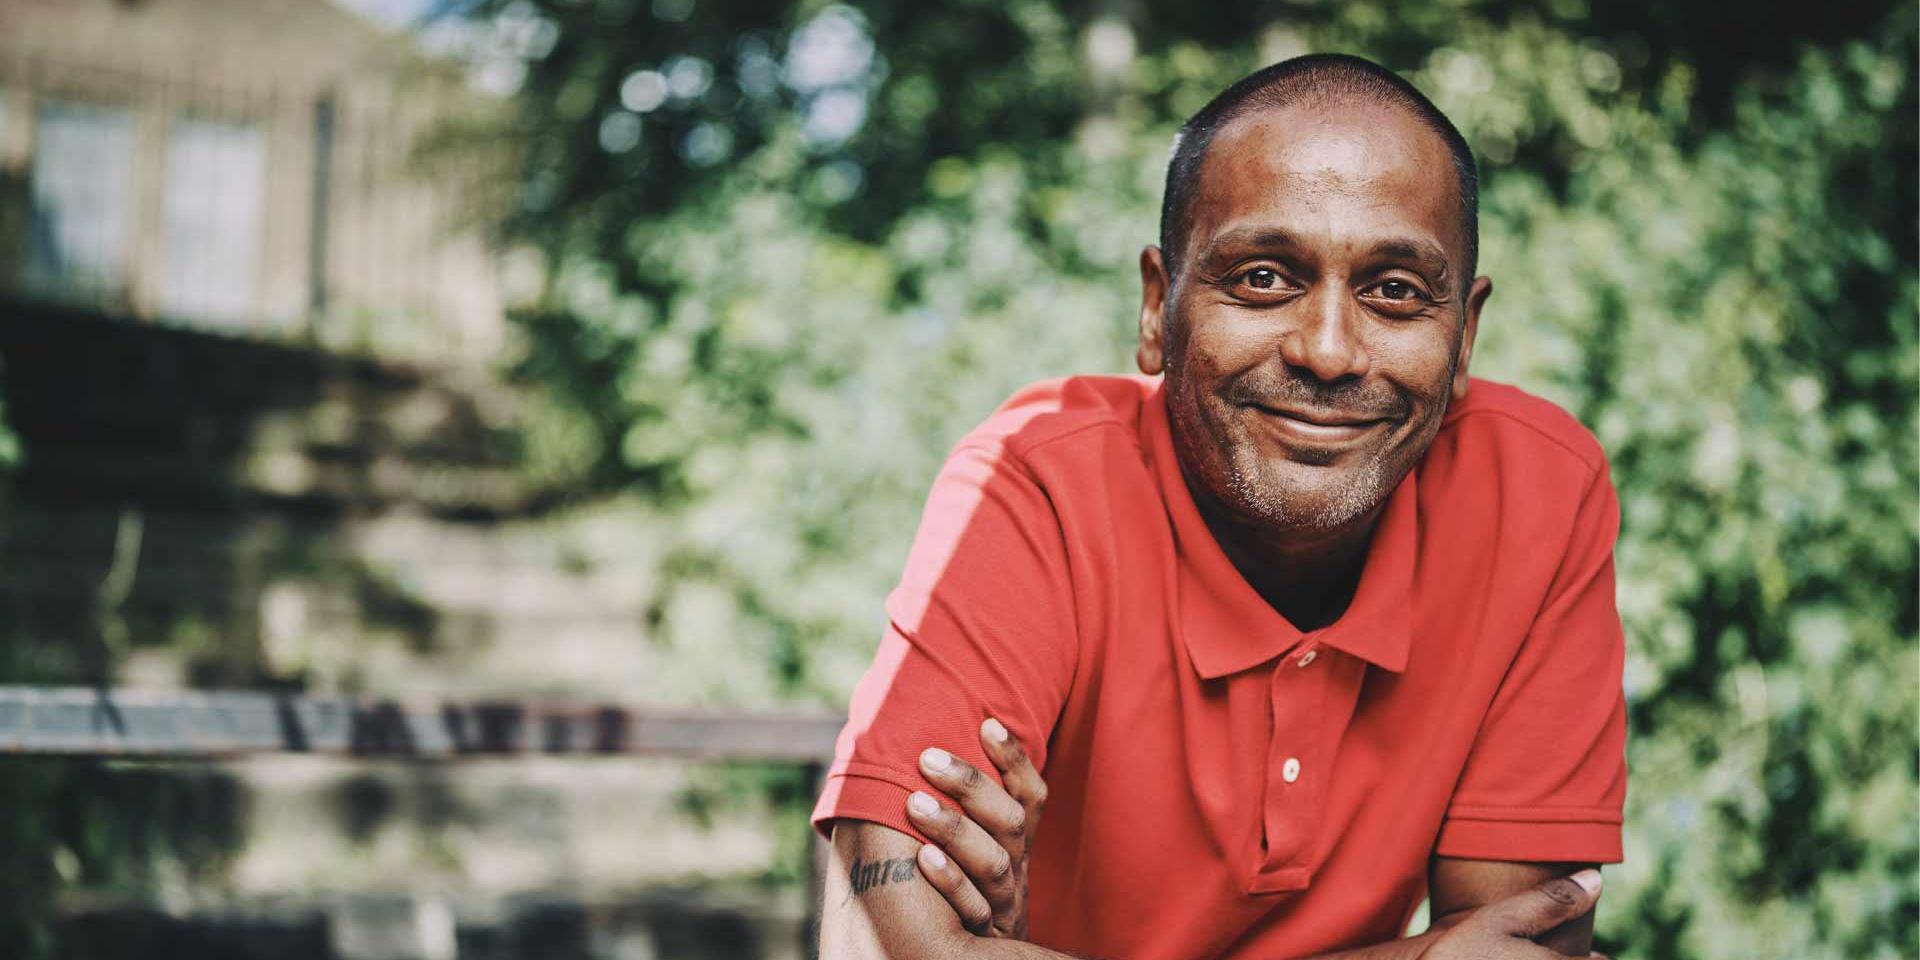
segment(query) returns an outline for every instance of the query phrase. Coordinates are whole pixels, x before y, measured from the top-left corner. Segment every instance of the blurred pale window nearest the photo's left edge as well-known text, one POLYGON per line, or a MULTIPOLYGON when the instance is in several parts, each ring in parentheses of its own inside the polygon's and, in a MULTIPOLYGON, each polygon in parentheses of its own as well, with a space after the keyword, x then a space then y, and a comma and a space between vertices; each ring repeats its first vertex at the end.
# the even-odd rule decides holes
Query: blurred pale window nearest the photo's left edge
POLYGON ((27 286, 61 300, 125 301, 134 123, 123 109, 48 102, 29 186, 27 286))

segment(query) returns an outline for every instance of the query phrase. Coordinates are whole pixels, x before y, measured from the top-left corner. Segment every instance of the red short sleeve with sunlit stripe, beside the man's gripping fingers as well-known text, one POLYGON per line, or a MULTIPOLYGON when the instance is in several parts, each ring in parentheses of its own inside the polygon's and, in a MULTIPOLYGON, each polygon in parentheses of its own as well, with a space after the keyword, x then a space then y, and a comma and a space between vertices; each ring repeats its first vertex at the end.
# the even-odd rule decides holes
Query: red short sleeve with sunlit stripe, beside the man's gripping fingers
POLYGON ((1075 664, 1073 593, 1058 515, 1002 444, 948 457, 887 620, 814 806, 822 833, 852 818, 918 837, 908 793, 943 797, 920 776, 920 751, 941 747, 995 774, 979 747, 987 716, 1044 770, 1075 664))

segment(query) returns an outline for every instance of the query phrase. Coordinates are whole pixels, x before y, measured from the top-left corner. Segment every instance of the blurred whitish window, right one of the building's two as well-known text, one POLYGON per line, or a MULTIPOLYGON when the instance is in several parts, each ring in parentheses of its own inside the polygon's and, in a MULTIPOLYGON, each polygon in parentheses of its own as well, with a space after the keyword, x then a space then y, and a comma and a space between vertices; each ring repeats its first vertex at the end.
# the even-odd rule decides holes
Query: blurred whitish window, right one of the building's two
POLYGON ((179 121, 167 140, 159 309, 238 326, 253 317, 267 140, 255 127, 179 121))

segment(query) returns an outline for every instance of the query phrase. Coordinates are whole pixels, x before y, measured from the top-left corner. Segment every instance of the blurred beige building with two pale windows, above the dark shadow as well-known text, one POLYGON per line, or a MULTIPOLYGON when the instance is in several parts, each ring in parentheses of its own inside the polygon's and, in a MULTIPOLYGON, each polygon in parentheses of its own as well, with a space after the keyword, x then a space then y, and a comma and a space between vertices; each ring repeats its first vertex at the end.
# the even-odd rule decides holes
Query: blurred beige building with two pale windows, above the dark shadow
POLYGON ((490 104, 319 0, 8 0, 4 282, 35 300, 334 349, 492 357, 490 104), (463 144, 470 146, 470 144, 463 144))

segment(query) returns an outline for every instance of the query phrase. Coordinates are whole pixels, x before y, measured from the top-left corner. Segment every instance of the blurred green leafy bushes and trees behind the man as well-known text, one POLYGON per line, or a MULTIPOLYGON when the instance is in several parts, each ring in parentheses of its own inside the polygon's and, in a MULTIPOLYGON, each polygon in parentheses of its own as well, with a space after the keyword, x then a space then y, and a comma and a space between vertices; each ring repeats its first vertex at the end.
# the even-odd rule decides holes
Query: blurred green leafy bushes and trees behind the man
POLYGON ((547 263, 532 449, 678 518, 689 697, 843 703, 947 447, 1129 369, 1179 119, 1306 50, 1480 152, 1476 372, 1592 424, 1624 507, 1632 795, 1601 947, 1916 943, 1910 6, 474 0, 547 263), (1233 8, 1233 10, 1227 10, 1233 8))

